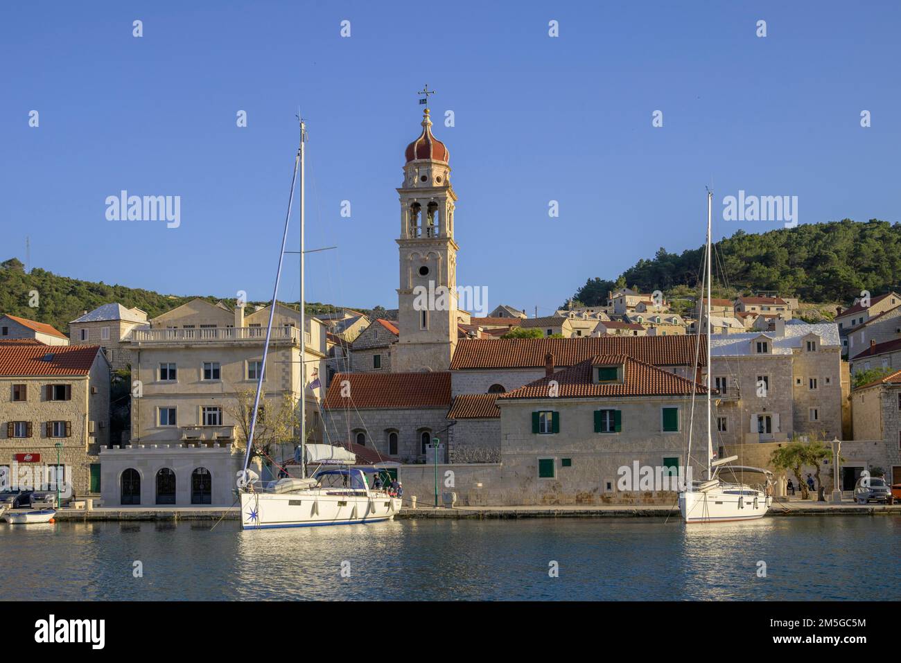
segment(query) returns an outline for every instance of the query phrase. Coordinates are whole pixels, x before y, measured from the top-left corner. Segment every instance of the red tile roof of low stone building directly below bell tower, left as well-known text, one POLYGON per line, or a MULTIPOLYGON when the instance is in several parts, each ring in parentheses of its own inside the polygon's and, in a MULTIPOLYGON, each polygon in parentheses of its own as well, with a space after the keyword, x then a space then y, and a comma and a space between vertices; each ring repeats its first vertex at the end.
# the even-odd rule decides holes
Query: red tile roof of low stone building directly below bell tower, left
POLYGON ((451 374, 442 373, 336 373, 323 408, 408 409, 449 407, 451 374), (341 383, 350 382, 350 397, 341 395, 341 383))

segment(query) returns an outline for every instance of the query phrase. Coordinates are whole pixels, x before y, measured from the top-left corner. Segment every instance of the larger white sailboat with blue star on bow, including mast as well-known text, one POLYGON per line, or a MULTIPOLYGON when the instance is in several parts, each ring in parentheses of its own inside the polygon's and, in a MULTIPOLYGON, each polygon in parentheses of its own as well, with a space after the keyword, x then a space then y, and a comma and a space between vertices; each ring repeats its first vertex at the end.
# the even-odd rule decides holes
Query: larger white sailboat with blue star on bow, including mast
MULTIPOLYGON (((238 489, 241 498, 241 529, 256 530, 281 527, 312 527, 316 525, 342 525, 362 522, 387 521, 400 511, 400 498, 385 490, 369 486, 366 473, 352 468, 356 456, 349 450, 328 444, 305 444, 305 311, 304 311, 304 157, 306 125, 300 121, 300 146, 291 179, 291 195, 288 199, 285 231, 281 253, 278 257, 276 285, 269 309, 266 342, 263 346, 262 370, 257 383, 257 394, 250 418, 250 434, 244 455, 244 467, 238 472, 238 489), (253 436, 259 413, 266 358, 272 333, 272 321, 278 297, 282 261, 285 257, 287 229, 294 203, 297 172, 300 171, 300 440, 297 459, 300 477, 284 477, 276 481, 261 482, 248 468, 253 450, 253 436), (316 468, 312 477, 306 477, 307 466, 316 468)), ((378 471, 372 468, 373 471, 378 471)))

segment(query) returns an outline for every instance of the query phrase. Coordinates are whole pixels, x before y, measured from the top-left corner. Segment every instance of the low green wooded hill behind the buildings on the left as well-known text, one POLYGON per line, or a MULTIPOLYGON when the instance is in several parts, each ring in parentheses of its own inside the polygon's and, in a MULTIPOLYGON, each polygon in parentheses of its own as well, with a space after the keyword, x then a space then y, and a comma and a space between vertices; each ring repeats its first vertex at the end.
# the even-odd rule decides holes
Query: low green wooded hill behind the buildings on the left
MULTIPOLYGON (((234 299, 213 296, 203 298, 210 302, 223 301, 232 306, 235 304, 234 299)), ((9 313, 47 322, 63 333, 68 333, 69 322, 84 311, 92 311, 101 304, 116 302, 127 308, 137 306, 152 318, 192 299, 194 296, 160 295, 141 288, 108 286, 103 282, 60 277, 41 268, 33 268, 31 273, 26 274, 23 263, 15 258, 0 263, 0 314, 9 313), (29 293, 32 290, 38 292, 37 308, 29 305, 29 293)), ((307 302, 305 308, 311 314, 337 310, 332 304, 314 302, 307 302)))

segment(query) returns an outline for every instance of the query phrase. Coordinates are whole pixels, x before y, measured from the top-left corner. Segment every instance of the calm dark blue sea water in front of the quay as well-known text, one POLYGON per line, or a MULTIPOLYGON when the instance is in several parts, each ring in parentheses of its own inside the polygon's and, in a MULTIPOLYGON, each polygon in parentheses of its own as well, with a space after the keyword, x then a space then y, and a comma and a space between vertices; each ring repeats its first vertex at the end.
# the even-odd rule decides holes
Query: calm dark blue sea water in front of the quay
POLYGON ((3 598, 896 599, 901 577, 901 516, 211 526, 2 523, 3 598))

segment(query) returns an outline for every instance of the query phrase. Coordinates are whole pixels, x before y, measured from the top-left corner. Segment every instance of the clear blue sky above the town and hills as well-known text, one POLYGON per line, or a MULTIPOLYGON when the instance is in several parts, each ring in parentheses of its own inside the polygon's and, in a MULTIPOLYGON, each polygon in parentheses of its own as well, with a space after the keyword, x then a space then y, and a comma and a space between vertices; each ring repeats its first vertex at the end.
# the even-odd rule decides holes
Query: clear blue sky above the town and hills
MULTIPOLYGON (((711 178, 717 212, 744 189, 797 195, 800 223, 897 222, 899 7, 5 3, 0 259, 24 259, 29 235, 32 266, 68 277, 267 299, 299 104, 307 246, 340 245, 308 259, 307 299, 396 307, 395 188, 426 82, 456 119, 435 133, 460 196, 458 283, 491 307, 550 313, 587 277, 699 246, 711 178), (180 195, 181 226, 107 221, 121 189, 180 195)), ((781 227, 714 220, 718 236, 781 227)), ((296 274, 289 258, 286 299, 296 274)))

